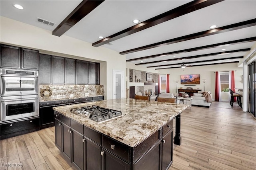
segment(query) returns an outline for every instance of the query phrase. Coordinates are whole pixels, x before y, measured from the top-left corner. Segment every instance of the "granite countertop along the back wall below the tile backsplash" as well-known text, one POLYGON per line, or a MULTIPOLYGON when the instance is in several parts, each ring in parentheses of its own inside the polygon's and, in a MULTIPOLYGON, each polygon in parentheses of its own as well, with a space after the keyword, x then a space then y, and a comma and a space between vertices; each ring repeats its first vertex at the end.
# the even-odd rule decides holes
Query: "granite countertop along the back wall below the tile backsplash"
POLYGON ((42 97, 40 96, 40 102, 48 102, 48 101, 55 101, 55 100, 67 100, 67 99, 77 99, 77 98, 88 98, 88 97, 96 97, 96 96, 103 96, 103 95, 94 95, 94 96, 80 96, 80 95, 55 95, 50 97, 42 97))

